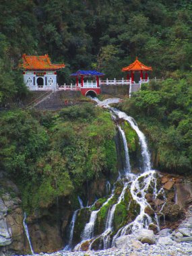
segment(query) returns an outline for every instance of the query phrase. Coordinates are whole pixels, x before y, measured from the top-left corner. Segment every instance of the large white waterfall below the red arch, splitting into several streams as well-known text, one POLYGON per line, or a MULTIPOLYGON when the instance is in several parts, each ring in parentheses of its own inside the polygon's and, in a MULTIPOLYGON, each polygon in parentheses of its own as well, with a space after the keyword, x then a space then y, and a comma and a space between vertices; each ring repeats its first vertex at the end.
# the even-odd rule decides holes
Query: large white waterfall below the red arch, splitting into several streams
MULTIPOLYGON (((117 181, 121 181, 121 182, 123 181, 123 179, 125 179, 125 181, 123 181, 123 189, 121 191, 121 195, 119 195, 117 199, 117 203, 113 204, 112 207, 108 208, 108 214, 106 216, 106 225, 105 225, 104 232, 102 232, 102 234, 100 234, 99 236, 94 237, 94 226, 96 224, 98 212, 100 212, 102 207, 106 205, 106 203, 108 203, 108 201, 114 197, 115 188, 113 189, 112 194, 107 199, 107 201, 102 204, 100 209, 96 211, 92 211, 90 220, 86 224, 84 231, 82 232, 82 242, 75 247, 76 250, 81 249, 81 245, 85 241, 89 241, 90 249, 92 249, 92 245, 94 244, 94 241, 96 241, 96 239, 98 238, 100 238, 100 241, 103 242, 103 248, 107 249, 108 247, 110 247, 110 245, 115 245, 115 239, 118 238, 119 236, 127 233, 137 232, 139 228, 148 228, 153 221, 156 222, 156 226, 158 227, 158 230, 159 230, 158 216, 155 214, 155 218, 154 220, 152 220, 152 218, 146 213, 146 207, 149 207, 152 210, 151 205, 148 203, 146 199, 146 193, 150 188, 150 186, 153 187, 154 189, 154 195, 153 195, 154 198, 156 198, 159 193, 162 193, 162 191, 161 190, 157 191, 156 172, 154 170, 151 170, 150 154, 149 154, 145 135, 143 135, 143 133, 139 130, 137 123, 135 123, 132 117, 129 117, 125 113, 115 108, 111 108, 109 106, 109 104, 111 103, 120 102, 121 100, 119 98, 108 99, 108 100, 104 100, 103 102, 101 102, 97 98, 94 98, 94 100, 98 103, 99 106, 108 108, 110 110, 113 120, 117 121, 116 120, 117 118, 123 119, 129 123, 132 129, 135 130, 141 146, 141 157, 143 160, 144 172, 140 175, 135 175, 131 173, 131 166, 129 162, 129 150, 127 147, 125 131, 123 131, 120 125, 117 125, 117 128, 119 129, 119 133, 121 134, 121 139, 123 141, 123 148, 125 152, 125 169, 124 169, 124 172, 121 173, 121 175, 117 179, 117 181), (127 189, 130 190, 133 201, 135 201, 137 205, 139 205, 140 211, 139 211, 139 214, 135 217, 135 220, 133 220, 133 222, 120 228, 115 234, 115 236, 113 236, 113 220, 114 220, 115 210, 117 208, 117 205, 119 205, 119 203, 121 203, 124 200, 125 192, 127 189), (112 236, 113 236, 113 241, 111 243, 110 241, 112 239, 112 236)), ((106 190, 108 191, 108 189, 106 190)), ((128 210, 130 207, 130 203, 131 201, 129 201, 129 205, 127 207, 128 210)), ((163 207, 164 205, 162 206, 162 208, 163 207)), ((162 208, 160 209, 160 211, 162 211, 162 208)))

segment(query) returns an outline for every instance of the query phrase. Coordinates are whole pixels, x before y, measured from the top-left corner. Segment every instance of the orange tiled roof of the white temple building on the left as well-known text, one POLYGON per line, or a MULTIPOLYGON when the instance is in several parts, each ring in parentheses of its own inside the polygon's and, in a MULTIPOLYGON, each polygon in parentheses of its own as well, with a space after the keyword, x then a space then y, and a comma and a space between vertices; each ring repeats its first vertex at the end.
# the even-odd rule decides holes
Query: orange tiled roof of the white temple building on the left
POLYGON ((55 70, 55 69, 63 69, 65 64, 52 64, 48 55, 43 56, 30 56, 23 55, 22 56, 23 63, 20 67, 24 69, 38 69, 38 70, 55 70))

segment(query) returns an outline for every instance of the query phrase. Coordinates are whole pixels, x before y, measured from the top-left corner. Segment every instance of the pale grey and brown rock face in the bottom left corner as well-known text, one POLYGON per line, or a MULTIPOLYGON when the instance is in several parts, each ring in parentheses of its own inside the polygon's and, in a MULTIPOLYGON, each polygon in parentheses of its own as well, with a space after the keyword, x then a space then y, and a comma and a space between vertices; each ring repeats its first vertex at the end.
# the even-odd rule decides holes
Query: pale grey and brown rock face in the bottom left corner
POLYGON ((2 174, 0 192, 0 252, 2 255, 29 253, 18 188, 2 174))

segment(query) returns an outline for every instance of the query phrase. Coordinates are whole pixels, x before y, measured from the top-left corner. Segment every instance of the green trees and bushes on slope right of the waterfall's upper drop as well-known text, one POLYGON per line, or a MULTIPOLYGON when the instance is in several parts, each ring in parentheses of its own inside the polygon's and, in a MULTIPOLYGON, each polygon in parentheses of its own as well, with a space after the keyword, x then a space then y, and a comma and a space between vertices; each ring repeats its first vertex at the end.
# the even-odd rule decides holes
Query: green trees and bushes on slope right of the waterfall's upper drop
POLYGON ((150 139, 156 168, 192 170, 192 75, 176 72, 162 82, 143 85, 123 103, 150 139))

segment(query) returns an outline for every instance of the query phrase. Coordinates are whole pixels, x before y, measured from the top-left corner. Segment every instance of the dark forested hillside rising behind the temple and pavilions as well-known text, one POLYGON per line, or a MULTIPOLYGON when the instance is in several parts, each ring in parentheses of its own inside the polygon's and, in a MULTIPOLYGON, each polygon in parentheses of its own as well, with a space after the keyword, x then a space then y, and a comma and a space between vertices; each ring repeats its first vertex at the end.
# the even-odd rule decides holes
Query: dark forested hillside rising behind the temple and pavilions
MULTIPOLYGON (((69 73, 96 68, 108 78, 137 55, 152 65, 153 75, 189 70, 192 59, 189 0, 10 0, 1 1, 0 100, 7 104, 24 94, 18 67, 22 54, 49 53, 65 62, 69 73)), ((20 71, 19 71, 20 73, 20 71)))

